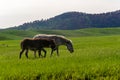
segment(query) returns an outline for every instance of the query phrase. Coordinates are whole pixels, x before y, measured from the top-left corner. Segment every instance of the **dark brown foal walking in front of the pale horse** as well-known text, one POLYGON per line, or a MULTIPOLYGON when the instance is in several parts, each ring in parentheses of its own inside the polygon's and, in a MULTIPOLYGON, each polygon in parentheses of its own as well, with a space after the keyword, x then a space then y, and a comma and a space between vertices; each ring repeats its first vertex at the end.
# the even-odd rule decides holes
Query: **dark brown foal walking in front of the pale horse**
MULTIPOLYGON (((21 51, 20 51, 20 56, 19 58, 21 58, 22 53, 26 50, 26 57, 28 58, 28 50, 33 50, 33 51, 37 51, 39 52, 39 57, 41 56, 41 50, 44 51, 44 57, 46 56, 46 51, 43 49, 44 47, 50 47, 52 49, 51 54, 53 53, 53 51, 56 48, 56 44, 54 42, 54 40, 52 39, 24 39, 21 42, 21 51)), ((36 52, 34 53, 35 57, 36 57, 36 52)))

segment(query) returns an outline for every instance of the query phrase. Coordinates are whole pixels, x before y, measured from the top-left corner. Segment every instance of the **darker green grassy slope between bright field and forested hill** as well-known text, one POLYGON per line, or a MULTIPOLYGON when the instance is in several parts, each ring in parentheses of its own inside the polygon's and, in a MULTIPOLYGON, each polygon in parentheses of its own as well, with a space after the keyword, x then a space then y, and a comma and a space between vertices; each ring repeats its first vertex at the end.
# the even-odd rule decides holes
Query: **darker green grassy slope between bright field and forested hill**
POLYGON ((0 40, 18 40, 36 34, 58 34, 66 37, 120 35, 120 28, 86 28, 78 30, 2 30, 0 40))

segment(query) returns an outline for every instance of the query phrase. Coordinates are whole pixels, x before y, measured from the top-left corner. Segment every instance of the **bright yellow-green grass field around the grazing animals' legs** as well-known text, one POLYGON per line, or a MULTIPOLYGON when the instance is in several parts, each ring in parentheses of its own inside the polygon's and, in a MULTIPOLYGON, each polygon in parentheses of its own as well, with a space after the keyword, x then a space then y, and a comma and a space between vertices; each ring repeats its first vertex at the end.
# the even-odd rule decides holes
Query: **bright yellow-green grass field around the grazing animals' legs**
POLYGON ((20 40, 0 41, 1 80, 119 80, 120 35, 68 37, 73 41, 74 53, 65 46, 50 57, 19 59, 20 40))

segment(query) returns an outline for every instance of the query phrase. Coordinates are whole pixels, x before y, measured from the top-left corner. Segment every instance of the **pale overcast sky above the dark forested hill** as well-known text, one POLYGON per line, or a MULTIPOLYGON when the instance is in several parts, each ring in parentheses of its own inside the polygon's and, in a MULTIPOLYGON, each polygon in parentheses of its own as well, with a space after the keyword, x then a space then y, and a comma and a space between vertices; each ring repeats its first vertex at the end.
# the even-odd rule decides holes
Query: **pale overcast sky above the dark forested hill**
POLYGON ((0 0, 0 28, 71 11, 94 14, 116 10, 120 10, 120 0, 0 0))

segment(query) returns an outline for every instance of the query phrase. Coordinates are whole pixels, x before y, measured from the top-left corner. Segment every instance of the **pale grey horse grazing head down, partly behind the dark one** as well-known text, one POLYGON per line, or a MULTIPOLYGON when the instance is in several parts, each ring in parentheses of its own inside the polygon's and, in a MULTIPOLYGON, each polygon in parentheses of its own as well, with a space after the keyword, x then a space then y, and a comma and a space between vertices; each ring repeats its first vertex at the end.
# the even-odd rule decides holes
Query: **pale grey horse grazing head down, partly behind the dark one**
POLYGON ((38 34, 33 37, 33 39, 36 38, 45 38, 45 39, 54 39, 55 44, 56 44, 56 50, 57 50, 57 55, 59 56, 59 51, 58 48, 60 45, 65 45, 67 46, 67 49, 70 51, 70 53, 74 52, 72 41, 65 38, 64 36, 61 35, 48 35, 48 34, 38 34))

